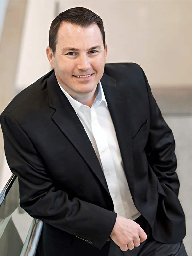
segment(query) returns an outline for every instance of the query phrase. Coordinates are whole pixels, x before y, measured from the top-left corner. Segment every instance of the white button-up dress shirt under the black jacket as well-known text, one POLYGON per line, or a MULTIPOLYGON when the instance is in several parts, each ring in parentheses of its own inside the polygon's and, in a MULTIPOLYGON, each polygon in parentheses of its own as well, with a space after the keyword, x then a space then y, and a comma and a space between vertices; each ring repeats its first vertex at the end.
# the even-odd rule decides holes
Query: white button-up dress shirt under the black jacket
POLYGON ((115 128, 101 83, 98 84, 98 94, 91 108, 73 99, 61 86, 60 88, 83 124, 100 161, 113 200, 114 212, 135 220, 141 214, 130 194, 115 128))

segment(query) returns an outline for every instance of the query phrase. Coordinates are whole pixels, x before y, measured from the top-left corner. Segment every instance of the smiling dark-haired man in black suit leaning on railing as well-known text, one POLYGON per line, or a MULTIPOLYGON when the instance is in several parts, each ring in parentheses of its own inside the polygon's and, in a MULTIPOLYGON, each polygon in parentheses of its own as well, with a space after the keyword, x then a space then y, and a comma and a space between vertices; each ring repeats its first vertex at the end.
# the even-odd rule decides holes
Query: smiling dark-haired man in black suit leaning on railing
POLYGON ((137 64, 106 64, 101 18, 52 22, 54 68, 1 115, 20 205, 44 221, 36 255, 187 255, 174 138, 137 64))

